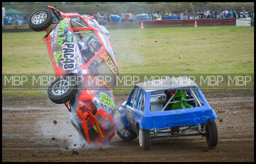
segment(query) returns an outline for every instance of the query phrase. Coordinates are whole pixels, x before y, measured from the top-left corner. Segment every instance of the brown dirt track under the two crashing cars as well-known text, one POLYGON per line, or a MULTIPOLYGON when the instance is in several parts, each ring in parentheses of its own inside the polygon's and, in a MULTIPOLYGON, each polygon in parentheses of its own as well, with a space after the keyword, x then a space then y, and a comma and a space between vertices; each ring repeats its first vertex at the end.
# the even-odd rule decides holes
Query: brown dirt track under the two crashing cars
MULTIPOLYGON (((116 96, 117 108, 127 97, 116 96)), ((205 138, 192 136, 157 138, 150 151, 140 150, 138 138, 127 143, 117 135, 102 147, 81 149, 64 105, 54 104, 48 97, 4 97, 2 161, 254 161, 254 92, 208 93, 205 97, 223 120, 215 120, 219 133, 215 148, 209 148, 205 138)), ((115 117, 118 115, 116 111, 115 117)))

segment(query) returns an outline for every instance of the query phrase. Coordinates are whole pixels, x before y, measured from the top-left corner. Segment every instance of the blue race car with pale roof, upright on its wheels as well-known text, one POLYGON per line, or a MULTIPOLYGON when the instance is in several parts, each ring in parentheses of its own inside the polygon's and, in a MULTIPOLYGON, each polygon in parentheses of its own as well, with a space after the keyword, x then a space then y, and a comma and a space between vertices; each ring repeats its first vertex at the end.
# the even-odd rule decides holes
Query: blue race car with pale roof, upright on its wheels
POLYGON ((189 78, 166 76, 139 83, 119 112, 116 133, 124 141, 139 136, 143 150, 150 149, 151 139, 163 137, 202 136, 209 147, 218 143, 218 117, 189 78))

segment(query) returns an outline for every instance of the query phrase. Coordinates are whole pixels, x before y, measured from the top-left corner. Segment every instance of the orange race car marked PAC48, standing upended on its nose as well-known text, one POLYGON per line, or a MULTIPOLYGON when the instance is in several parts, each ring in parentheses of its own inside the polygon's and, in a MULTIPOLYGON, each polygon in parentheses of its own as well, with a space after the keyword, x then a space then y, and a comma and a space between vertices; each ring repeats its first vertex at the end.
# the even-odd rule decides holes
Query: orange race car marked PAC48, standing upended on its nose
POLYGON ((71 123, 88 144, 106 143, 115 135, 112 91, 118 76, 110 34, 93 17, 47 7, 51 12, 34 12, 29 26, 47 32, 43 41, 56 77, 48 96, 54 103, 66 105, 71 123), (56 26, 49 30, 52 24, 56 26))

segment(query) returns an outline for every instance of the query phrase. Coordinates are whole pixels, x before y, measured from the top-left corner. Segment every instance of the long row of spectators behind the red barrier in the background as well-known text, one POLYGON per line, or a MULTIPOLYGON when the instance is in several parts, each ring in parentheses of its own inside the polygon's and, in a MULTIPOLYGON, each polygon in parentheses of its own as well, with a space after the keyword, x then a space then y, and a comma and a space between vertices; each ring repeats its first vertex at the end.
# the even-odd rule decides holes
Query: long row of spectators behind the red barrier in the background
POLYGON ((165 11, 151 11, 151 12, 139 12, 131 11, 129 13, 119 12, 113 15, 107 11, 101 11, 94 13, 92 16, 97 19, 98 22, 113 22, 112 17, 120 18, 120 22, 133 22, 138 20, 165 20, 165 19, 217 19, 217 18, 252 18, 254 19, 254 9, 245 11, 244 7, 240 11, 236 10, 206 10, 202 12, 188 12, 175 14, 171 10, 165 11), (137 15, 136 15, 137 14, 137 15))

